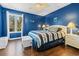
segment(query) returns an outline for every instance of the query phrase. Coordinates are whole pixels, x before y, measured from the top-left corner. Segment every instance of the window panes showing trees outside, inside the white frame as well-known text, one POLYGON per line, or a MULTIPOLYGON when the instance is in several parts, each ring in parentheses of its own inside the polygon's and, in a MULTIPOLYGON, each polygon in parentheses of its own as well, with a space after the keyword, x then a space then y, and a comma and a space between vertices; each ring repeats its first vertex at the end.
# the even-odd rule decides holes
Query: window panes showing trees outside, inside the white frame
POLYGON ((9 15, 9 31, 21 32, 22 30, 22 16, 10 14, 9 15))

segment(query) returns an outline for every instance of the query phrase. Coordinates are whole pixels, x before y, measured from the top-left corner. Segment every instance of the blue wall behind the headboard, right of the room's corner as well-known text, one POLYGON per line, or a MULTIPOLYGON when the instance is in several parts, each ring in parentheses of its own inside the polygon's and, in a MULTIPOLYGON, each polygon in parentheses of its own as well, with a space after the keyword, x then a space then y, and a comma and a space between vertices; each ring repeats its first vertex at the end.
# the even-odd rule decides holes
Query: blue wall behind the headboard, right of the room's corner
POLYGON ((67 25, 71 21, 79 25, 79 3, 72 3, 45 16, 45 22, 49 25, 67 25), (69 18, 71 14, 74 17, 69 18))

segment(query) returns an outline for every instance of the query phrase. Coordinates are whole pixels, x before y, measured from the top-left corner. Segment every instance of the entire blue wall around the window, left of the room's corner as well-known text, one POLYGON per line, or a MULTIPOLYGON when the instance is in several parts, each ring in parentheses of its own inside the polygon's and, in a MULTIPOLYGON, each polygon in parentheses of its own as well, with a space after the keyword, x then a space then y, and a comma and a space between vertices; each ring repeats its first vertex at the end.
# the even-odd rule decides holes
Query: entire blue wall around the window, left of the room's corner
MULTIPOLYGON (((0 36, 7 36, 7 18, 6 11, 10 11, 12 13, 24 14, 24 23, 23 23, 23 35, 27 35, 31 30, 38 30, 38 25, 41 23, 45 23, 45 19, 42 16, 12 10, 5 7, 0 6, 0 36)), ((10 37, 18 37, 20 33, 11 34, 10 37), (17 34, 17 35, 16 35, 17 34)))

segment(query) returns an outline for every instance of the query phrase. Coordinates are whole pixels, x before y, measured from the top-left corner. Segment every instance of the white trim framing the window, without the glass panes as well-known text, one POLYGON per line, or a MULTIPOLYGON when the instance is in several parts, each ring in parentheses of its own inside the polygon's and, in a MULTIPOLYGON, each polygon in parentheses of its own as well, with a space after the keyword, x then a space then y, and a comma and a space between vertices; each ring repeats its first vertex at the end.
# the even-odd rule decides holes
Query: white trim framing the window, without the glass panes
MULTIPOLYGON (((22 24, 21 24, 22 27, 21 27, 21 31, 17 31, 16 28, 15 28, 15 31, 14 32, 10 32, 9 31, 9 15, 16 15, 16 14, 14 14, 14 13, 12 14, 9 11, 6 12, 6 16, 7 16, 7 37, 9 39, 18 39, 19 37, 17 37, 17 38, 10 38, 10 33, 21 33, 21 37, 22 37, 22 35, 23 35, 23 14, 21 14, 21 15, 17 14, 17 16, 22 16, 22 24)), ((15 25, 15 27, 16 27, 16 25, 15 25)))

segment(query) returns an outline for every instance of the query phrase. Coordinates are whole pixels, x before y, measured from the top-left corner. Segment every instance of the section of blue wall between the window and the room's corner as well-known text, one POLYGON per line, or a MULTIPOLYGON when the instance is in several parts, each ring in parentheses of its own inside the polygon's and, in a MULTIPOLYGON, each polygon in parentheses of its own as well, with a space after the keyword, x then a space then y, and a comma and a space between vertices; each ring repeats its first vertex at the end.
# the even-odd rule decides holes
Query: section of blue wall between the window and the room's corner
POLYGON ((38 30, 38 25, 43 24, 45 22, 44 17, 31 14, 25 14, 24 19, 24 35, 26 35, 31 30, 38 30))

